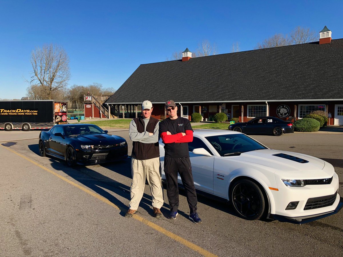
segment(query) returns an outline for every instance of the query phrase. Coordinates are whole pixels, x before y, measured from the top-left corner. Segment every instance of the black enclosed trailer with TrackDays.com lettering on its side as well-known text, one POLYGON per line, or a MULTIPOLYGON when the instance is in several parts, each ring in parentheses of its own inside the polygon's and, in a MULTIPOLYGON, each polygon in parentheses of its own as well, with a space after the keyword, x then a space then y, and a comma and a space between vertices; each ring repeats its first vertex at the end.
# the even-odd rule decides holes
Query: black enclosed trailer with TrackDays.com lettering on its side
POLYGON ((0 129, 50 129, 68 123, 67 102, 54 100, 0 101, 0 129))

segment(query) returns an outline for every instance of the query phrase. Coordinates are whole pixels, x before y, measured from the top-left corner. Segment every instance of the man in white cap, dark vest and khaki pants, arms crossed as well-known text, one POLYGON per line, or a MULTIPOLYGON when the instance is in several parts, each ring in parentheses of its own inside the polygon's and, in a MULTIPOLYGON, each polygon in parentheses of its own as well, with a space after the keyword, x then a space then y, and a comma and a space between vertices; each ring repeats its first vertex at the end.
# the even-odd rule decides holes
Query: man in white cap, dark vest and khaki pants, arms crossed
POLYGON ((153 107, 148 100, 142 103, 142 118, 135 118, 130 123, 129 135, 133 142, 131 154, 132 183, 130 187, 131 200, 125 217, 136 213, 143 197, 145 178, 150 186, 154 217, 162 217, 161 207, 163 189, 159 174, 158 129, 159 120, 152 118, 153 107))

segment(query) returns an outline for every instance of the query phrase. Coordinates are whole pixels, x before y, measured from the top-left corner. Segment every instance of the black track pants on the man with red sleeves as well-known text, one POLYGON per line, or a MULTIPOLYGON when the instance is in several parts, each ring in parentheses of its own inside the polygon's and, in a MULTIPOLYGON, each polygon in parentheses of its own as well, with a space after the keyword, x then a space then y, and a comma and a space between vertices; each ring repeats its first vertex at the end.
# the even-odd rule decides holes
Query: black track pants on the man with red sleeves
POLYGON ((164 173, 167 179, 167 196, 170 211, 177 211, 179 207, 179 188, 177 184, 177 173, 180 174, 184 184, 190 214, 197 211, 197 193, 194 187, 192 166, 189 158, 164 158, 164 173))

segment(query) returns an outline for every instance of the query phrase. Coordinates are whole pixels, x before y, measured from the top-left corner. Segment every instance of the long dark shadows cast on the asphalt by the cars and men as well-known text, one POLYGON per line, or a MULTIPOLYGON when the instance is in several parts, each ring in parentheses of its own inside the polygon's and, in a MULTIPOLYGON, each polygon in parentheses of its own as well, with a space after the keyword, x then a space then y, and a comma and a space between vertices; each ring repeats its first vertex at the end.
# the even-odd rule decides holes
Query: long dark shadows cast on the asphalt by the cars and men
MULTIPOLYGON (((28 148, 39 156, 38 151, 38 144, 28 145, 28 148)), ((109 178, 99 172, 94 171, 90 166, 81 166, 76 165, 72 168, 68 167, 66 163, 58 159, 56 157, 48 156, 47 158, 51 161, 51 166, 55 170, 59 170, 73 178, 74 180, 78 181, 79 183, 83 184, 84 186, 92 189, 94 192, 98 193, 99 195, 108 199, 111 203, 118 206, 120 209, 120 215, 125 216, 126 211, 128 210, 128 206, 123 203, 121 200, 116 198, 113 194, 107 192, 113 192, 116 195, 119 195, 125 199, 127 199, 127 204, 130 201, 130 186, 122 184, 116 180, 109 178), (88 168, 89 167, 89 168, 88 168), (107 191, 106 191, 107 190, 107 191)), ((102 163, 100 164, 102 167, 116 172, 120 175, 126 176, 127 178, 132 179, 131 176, 131 158, 117 161, 117 162, 109 162, 109 163, 102 163)), ((147 184, 147 182, 145 183, 147 184)), ((164 204, 161 208, 161 212, 165 218, 168 218, 169 215, 169 204, 167 200, 167 194, 165 190, 165 182, 163 182, 163 195, 164 195, 164 204)), ((186 198, 186 191, 179 187, 179 194, 186 198)), ((228 202, 220 198, 213 198, 209 197, 208 195, 203 195, 201 192, 197 191, 198 203, 202 203, 204 205, 210 206, 214 209, 218 209, 220 211, 226 212, 230 215, 237 216, 233 207, 228 204, 228 202)), ((150 215, 153 216, 153 209, 152 209, 152 200, 150 194, 143 194, 142 200, 140 202, 140 207, 142 207, 145 211, 147 211, 150 215)), ((184 212, 178 210, 179 215, 188 219, 189 211, 184 212)))

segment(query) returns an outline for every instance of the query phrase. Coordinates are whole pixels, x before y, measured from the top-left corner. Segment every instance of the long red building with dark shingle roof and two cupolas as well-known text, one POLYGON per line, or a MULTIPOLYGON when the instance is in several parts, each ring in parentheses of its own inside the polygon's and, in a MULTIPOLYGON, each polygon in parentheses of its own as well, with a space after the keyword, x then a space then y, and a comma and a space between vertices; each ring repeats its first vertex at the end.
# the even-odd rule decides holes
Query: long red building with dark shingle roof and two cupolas
POLYGON ((323 110, 330 124, 343 125, 343 39, 331 40, 325 28, 318 42, 306 44, 198 58, 187 48, 188 60, 140 65, 106 103, 134 113, 150 100, 160 118, 172 99, 183 117, 199 112, 208 120, 224 112, 239 121, 265 115, 294 121, 323 110))

